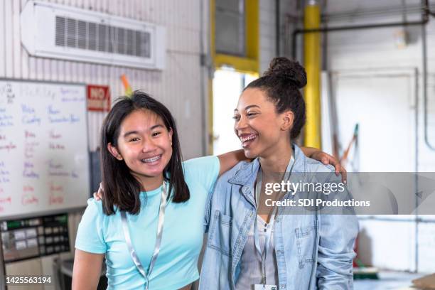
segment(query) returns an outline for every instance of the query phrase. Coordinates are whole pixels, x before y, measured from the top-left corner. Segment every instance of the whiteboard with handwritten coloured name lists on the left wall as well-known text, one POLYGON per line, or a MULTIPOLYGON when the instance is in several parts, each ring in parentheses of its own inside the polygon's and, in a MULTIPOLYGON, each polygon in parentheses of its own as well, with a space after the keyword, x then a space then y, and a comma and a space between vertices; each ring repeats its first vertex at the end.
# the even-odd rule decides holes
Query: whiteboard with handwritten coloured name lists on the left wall
POLYGON ((0 218, 85 206, 89 184, 85 85, 0 80, 0 218))

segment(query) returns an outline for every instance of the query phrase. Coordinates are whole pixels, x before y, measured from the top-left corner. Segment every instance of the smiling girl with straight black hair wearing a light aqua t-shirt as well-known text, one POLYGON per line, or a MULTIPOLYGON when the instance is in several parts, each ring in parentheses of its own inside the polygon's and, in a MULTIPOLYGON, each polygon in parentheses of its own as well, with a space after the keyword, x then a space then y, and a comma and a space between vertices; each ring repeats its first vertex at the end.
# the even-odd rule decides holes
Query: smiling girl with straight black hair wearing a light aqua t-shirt
POLYGON ((243 151, 183 162, 171 112, 143 92, 114 104, 101 148, 104 193, 88 201, 79 225, 73 289, 96 289, 104 256, 108 289, 189 289, 208 192, 243 151))

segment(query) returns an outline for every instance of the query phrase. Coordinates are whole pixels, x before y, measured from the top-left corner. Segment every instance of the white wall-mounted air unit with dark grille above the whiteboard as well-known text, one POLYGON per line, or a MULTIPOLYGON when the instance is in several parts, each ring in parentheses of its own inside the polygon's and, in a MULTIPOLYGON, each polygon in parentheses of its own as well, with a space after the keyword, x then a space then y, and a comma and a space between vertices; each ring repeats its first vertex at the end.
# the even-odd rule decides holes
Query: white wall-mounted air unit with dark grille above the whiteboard
POLYGON ((134 68, 164 65, 165 30, 151 23, 29 1, 21 26, 31 55, 134 68))

